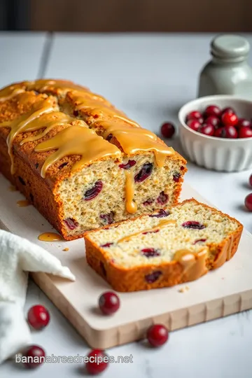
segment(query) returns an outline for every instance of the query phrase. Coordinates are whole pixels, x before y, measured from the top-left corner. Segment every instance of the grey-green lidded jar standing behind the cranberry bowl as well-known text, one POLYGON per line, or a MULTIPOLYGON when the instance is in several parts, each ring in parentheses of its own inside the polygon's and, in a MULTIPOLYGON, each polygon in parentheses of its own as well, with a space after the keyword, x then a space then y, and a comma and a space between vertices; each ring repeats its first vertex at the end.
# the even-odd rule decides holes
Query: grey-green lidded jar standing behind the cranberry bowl
POLYGON ((212 59, 200 73, 198 97, 235 94, 252 100, 250 45, 242 36, 223 34, 211 41, 212 59))

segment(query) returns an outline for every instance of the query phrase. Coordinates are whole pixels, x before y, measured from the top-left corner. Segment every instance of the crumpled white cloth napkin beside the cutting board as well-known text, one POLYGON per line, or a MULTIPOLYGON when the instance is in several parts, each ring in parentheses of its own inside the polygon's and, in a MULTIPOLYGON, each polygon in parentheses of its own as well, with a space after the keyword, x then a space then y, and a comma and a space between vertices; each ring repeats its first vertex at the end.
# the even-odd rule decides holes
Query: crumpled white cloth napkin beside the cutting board
POLYGON ((0 364, 31 342, 24 305, 28 272, 75 281, 68 267, 27 239, 0 230, 0 364))

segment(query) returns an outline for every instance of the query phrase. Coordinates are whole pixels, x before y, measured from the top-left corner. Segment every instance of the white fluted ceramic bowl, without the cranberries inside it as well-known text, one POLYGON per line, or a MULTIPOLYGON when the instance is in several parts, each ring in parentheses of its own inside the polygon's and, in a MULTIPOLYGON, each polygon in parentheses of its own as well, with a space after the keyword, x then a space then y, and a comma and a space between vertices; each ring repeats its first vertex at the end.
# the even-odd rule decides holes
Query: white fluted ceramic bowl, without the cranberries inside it
POLYGON ((252 102, 232 95, 201 97, 188 102, 179 111, 179 137, 188 158, 197 165, 216 171, 252 169, 252 138, 208 137, 186 125, 186 116, 190 111, 202 112, 208 105, 217 105, 222 109, 231 106, 240 118, 252 118, 252 102))

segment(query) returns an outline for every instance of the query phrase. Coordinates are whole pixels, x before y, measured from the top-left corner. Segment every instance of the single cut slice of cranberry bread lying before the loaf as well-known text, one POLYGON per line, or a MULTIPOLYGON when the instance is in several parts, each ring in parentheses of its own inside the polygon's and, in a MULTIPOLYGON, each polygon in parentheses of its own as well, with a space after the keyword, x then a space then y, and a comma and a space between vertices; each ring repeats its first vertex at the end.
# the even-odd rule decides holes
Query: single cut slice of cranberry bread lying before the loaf
POLYGON ((117 291, 174 286, 194 281, 230 260, 242 229, 235 218, 186 200, 86 232, 86 258, 117 291))

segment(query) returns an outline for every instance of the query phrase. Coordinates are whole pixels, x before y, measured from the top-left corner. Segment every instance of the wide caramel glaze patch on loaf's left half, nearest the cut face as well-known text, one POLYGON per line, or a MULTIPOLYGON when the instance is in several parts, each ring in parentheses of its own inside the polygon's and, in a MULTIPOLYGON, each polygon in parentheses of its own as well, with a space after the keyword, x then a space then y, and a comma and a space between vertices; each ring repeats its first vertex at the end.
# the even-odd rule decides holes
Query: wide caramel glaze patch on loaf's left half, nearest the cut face
POLYGON ((99 137, 94 130, 85 126, 71 126, 58 132, 55 137, 38 144, 34 148, 36 152, 57 150, 43 163, 41 176, 44 178, 46 170, 57 160, 68 155, 80 155, 80 160, 73 165, 72 171, 76 171, 83 165, 90 164, 99 158, 121 155, 119 148, 99 137))

